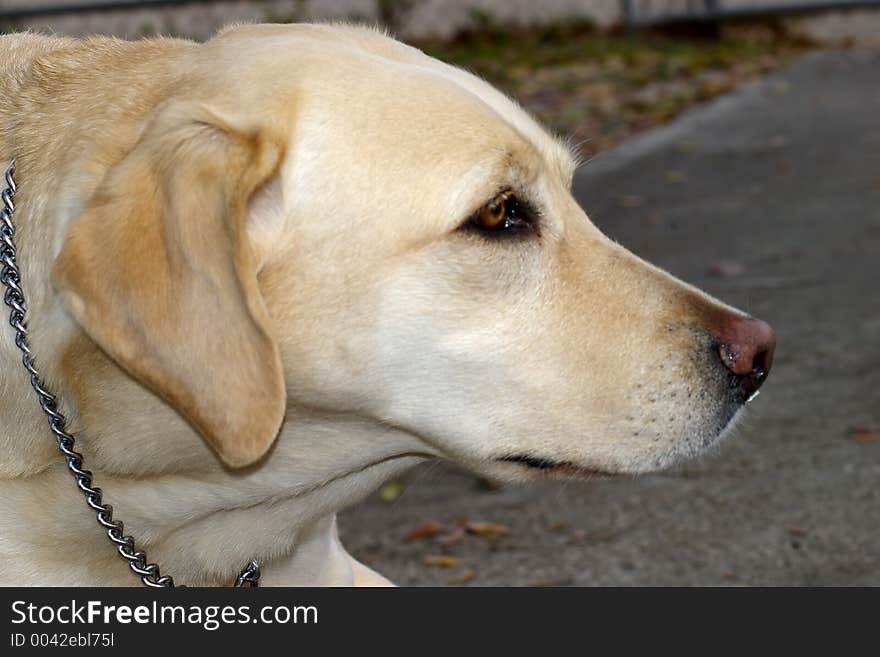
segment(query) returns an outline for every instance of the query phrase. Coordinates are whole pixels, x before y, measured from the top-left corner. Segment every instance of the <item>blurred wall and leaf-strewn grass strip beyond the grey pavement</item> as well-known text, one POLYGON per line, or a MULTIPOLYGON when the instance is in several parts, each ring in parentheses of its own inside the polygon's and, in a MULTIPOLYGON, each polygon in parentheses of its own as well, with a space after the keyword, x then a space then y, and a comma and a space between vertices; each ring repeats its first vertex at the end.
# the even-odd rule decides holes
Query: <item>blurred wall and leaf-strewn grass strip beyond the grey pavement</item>
POLYGON ((386 26, 586 156, 816 46, 880 46, 880 0, 0 0, 5 31, 197 40, 235 21, 386 26))

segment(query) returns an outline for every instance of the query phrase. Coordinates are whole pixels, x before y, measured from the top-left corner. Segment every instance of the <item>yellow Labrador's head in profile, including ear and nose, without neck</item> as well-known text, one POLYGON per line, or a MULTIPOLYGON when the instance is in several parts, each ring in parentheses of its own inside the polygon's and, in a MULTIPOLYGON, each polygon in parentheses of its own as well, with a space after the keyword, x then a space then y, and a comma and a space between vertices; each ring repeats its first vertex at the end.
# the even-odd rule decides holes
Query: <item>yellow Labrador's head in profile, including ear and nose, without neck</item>
POLYGON ((641 472, 763 382, 769 327, 605 238, 566 148, 479 79, 353 28, 186 58, 55 277, 229 465, 308 407, 490 476, 641 472))

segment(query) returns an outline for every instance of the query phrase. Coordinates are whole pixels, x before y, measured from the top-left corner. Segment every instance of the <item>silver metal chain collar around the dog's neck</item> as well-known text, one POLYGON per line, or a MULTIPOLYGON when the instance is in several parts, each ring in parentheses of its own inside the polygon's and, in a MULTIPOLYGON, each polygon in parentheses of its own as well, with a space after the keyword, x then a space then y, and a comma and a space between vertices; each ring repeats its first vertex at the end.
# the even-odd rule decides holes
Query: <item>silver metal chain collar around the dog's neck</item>
MULTIPOLYGON (((174 588, 174 579, 170 575, 163 575, 159 566, 147 561, 144 551, 138 550, 134 539, 123 531, 121 520, 114 520, 113 507, 105 504, 103 493, 94 485, 92 473, 83 468, 82 454, 74 450, 75 438, 67 432, 67 419, 58 410, 57 398, 48 392, 34 367, 28 342, 27 324, 25 314, 27 303, 22 290, 21 271, 15 262, 15 226, 12 216, 15 214, 16 185, 13 179, 15 173, 15 160, 6 170, 6 189, 0 193, 3 200, 3 208, 0 209, 0 282, 6 287, 3 300, 9 306, 9 323, 15 329, 15 344, 21 351, 21 362, 31 377, 31 385, 37 393, 40 407, 49 421, 49 429, 55 436, 58 449, 64 455, 67 469, 76 481, 77 487, 86 498, 86 504, 92 509, 100 524, 106 531, 107 537, 116 546, 119 556, 128 562, 128 567, 141 578, 145 586, 152 588, 174 588)), ((239 573, 235 580, 235 586, 258 586, 260 582, 260 567, 256 561, 251 561, 239 573)))

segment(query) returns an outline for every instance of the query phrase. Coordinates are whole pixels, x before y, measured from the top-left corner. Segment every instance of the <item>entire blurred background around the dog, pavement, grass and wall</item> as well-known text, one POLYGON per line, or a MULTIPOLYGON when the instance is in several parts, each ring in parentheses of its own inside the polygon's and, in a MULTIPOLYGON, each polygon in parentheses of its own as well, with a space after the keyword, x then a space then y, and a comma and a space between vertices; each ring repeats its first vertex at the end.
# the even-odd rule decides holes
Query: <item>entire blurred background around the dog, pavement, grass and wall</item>
POLYGON ((590 217, 777 331, 734 437, 629 480, 433 464, 341 515, 400 584, 880 583, 880 0, 5 0, 0 27, 386 26, 581 151, 590 217))

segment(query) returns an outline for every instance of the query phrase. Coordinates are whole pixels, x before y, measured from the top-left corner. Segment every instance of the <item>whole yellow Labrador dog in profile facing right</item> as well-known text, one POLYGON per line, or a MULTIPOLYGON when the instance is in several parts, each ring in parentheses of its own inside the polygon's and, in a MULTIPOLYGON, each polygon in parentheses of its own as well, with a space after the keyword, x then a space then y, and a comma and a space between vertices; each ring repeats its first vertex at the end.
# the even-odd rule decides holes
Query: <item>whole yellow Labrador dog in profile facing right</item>
MULTIPOLYGON (((31 347, 178 583, 386 585, 336 512, 447 459, 501 481, 715 443, 770 327, 641 261, 489 84, 370 28, 0 38, 31 347)), ((0 584, 131 585, 0 333, 0 584)))

